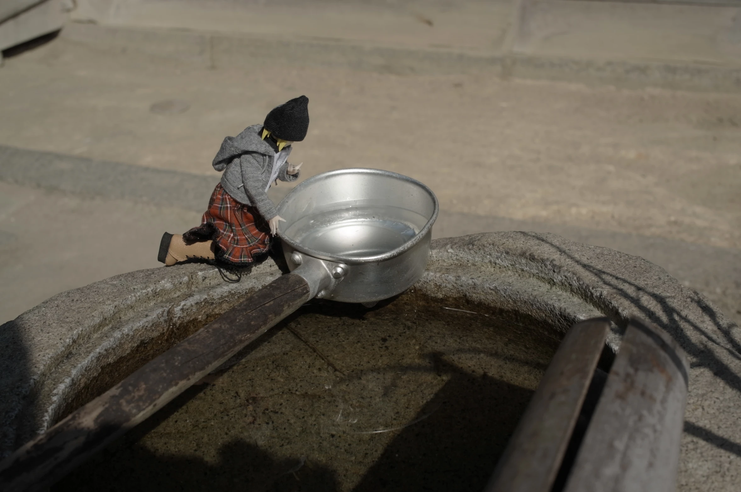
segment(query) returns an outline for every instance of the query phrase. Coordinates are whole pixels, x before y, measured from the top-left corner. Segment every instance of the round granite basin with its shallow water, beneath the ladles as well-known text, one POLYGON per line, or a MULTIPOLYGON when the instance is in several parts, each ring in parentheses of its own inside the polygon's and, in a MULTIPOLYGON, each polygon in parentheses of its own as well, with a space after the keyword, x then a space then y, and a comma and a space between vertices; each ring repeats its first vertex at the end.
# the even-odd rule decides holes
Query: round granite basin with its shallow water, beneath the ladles
MULTIPOLYGON (((3 325, 1 451, 280 274, 141 270, 3 325)), ((679 489, 734 490, 738 328, 650 262, 535 233, 438 239, 422 280, 372 309, 306 305, 56 489, 480 489, 565 330, 608 316, 619 350, 632 314, 691 361, 679 489)))

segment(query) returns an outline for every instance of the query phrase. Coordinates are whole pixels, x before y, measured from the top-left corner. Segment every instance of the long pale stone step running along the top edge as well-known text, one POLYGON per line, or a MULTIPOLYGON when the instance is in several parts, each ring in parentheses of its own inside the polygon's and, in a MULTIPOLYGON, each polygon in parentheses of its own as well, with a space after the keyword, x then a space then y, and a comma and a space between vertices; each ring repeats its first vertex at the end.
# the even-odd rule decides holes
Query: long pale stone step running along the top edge
POLYGON ((740 9, 581 0, 468 0, 455 7, 411 0, 80 0, 62 36, 210 68, 286 63, 736 91, 740 9))

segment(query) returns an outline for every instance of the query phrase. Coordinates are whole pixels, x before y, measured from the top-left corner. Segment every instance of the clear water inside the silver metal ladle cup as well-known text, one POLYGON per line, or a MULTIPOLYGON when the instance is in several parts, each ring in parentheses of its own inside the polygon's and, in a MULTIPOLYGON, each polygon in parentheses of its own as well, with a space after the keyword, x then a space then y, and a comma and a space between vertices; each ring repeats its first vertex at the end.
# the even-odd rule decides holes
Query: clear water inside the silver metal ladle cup
POLYGON ((356 205, 302 217, 285 234, 324 253, 376 256, 408 242, 425 222, 419 213, 399 207, 356 205))

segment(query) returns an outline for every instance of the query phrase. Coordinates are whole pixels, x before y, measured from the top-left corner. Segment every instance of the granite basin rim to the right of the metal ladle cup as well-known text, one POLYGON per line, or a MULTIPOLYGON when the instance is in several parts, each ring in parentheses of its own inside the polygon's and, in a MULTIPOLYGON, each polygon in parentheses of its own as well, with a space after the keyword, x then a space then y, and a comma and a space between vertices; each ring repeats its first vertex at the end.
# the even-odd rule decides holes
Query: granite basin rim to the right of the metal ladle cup
POLYGON ((630 315, 663 328, 691 367, 678 490, 738 490, 741 330, 661 267, 554 234, 483 233, 434 241, 428 273, 417 286, 441 297, 461 290, 519 305, 538 318, 562 319, 554 322, 559 328, 603 313, 616 325, 611 345, 619 343, 630 315), (501 271, 522 282, 499 282, 501 271), (527 290, 531 280, 539 289, 527 290), (559 293, 570 294, 572 304, 559 302, 559 293))

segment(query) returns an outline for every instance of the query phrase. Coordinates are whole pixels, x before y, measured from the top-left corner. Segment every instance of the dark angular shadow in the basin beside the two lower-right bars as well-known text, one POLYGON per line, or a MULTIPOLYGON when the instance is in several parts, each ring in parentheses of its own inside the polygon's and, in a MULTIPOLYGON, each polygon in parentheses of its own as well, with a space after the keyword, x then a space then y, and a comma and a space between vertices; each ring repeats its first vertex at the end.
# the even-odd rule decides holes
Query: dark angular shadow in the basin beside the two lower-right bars
POLYGON ((480 491, 488 482, 533 391, 432 357, 439 373, 453 377, 353 492, 480 491))

